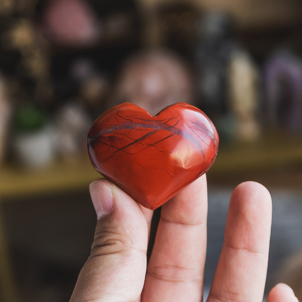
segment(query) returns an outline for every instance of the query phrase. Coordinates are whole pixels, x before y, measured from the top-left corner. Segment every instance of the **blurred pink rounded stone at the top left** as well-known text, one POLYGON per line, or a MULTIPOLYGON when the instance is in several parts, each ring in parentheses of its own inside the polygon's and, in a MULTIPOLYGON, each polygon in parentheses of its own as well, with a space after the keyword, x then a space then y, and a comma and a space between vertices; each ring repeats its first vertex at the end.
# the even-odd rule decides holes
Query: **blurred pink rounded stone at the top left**
POLYGON ((57 44, 83 46, 95 43, 99 28, 87 2, 52 0, 43 13, 43 34, 57 44))

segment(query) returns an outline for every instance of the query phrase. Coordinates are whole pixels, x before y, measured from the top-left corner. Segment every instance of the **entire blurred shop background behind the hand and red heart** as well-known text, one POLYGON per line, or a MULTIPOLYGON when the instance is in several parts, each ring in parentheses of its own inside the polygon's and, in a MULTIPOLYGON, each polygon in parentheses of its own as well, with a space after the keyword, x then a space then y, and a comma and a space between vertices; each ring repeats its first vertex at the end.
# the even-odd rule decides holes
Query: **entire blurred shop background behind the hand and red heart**
POLYGON ((96 223, 86 135, 124 101, 186 102, 217 127, 205 291, 231 192, 253 180, 273 200, 266 294, 282 281, 302 300, 301 15, 300 0, 0 0, 0 301, 69 300, 96 223))

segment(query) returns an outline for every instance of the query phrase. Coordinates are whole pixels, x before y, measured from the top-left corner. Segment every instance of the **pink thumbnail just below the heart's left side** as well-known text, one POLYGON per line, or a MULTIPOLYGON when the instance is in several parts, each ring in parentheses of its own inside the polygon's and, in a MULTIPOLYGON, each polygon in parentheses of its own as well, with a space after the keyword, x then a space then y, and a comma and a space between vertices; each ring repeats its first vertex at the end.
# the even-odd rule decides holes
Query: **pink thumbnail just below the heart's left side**
POLYGON ((99 181, 92 182, 89 186, 89 192, 98 218, 112 211, 113 196, 108 185, 99 181))

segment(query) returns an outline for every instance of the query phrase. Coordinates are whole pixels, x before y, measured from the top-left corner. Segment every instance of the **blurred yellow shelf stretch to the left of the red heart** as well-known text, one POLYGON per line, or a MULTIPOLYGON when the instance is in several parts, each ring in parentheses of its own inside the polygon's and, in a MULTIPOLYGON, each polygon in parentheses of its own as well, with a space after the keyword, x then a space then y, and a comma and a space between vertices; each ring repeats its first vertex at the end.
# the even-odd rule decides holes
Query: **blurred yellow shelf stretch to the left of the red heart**
POLYGON ((88 156, 56 161, 40 169, 18 169, 14 165, 4 165, 0 167, 0 198, 88 190, 88 185, 100 176, 88 156))

